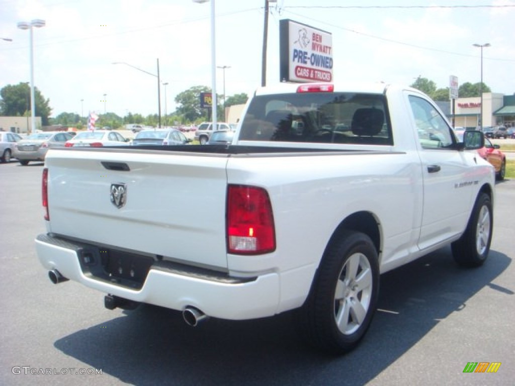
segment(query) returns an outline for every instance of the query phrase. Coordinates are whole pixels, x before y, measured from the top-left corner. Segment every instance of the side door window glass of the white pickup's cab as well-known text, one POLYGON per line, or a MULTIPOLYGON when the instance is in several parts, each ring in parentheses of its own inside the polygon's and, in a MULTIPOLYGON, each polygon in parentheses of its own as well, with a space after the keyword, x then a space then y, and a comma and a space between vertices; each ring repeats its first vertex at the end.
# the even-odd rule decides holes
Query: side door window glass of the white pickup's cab
POLYGON ((431 103, 409 95, 409 104, 422 148, 441 149, 453 145, 451 128, 431 103))

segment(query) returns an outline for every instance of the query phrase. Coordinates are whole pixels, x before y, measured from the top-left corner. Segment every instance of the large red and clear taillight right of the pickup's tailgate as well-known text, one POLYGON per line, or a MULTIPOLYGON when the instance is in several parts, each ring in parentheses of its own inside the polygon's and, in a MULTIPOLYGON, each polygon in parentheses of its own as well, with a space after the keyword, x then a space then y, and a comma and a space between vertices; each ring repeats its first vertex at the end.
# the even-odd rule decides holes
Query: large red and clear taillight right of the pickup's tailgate
POLYGON ((265 189, 229 185, 227 192, 227 251, 262 254, 276 249, 272 205, 265 189))

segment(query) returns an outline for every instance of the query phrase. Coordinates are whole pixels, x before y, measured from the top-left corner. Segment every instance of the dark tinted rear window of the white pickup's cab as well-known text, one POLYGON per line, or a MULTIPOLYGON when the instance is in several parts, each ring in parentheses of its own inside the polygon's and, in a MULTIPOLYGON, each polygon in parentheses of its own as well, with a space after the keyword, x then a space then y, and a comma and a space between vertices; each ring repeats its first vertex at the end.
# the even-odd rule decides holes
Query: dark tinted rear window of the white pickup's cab
POLYGON ((243 119, 239 139, 393 145, 385 96, 364 93, 255 96, 243 119))

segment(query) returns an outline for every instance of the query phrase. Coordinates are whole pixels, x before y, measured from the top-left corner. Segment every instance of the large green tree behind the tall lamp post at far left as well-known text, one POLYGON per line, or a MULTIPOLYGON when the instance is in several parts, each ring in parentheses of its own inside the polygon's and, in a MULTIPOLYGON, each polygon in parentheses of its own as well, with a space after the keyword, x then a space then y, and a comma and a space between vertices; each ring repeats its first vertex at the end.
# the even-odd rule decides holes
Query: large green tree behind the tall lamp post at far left
MULTIPOLYGON (((0 90, 0 97, 2 97, 0 115, 20 117, 24 116, 26 112, 29 112, 30 115, 30 87, 28 83, 8 84, 0 90)), ((40 116, 41 124, 47 126, 48 117, 52 113, 52 108, 49 106, 50 100, 45 99, 38 87, 34 87, 34 97, 36 100, 36 116, 40 116)))

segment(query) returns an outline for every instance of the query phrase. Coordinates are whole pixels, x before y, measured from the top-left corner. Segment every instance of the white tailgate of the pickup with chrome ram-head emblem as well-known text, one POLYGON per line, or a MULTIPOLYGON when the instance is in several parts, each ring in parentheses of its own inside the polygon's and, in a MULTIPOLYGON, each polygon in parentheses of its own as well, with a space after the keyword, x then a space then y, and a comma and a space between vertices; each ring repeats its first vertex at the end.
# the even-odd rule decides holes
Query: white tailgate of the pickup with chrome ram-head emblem
POLYGON ((227 155, 52 150, 45 162, 50 232, 227 270, 227 155))

